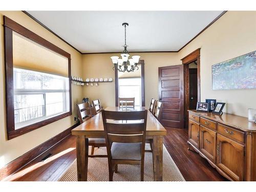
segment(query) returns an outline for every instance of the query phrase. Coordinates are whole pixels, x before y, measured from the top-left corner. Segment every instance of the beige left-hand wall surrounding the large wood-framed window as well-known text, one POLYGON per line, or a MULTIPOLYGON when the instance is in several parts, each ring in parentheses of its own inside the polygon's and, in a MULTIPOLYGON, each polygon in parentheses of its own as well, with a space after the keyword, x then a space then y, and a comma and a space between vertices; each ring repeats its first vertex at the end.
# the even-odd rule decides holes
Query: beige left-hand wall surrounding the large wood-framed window
POLYGON ((82 98, 82 87, 74 86, 72 84, 72 109, 73 115, 48 124, 44 127, 16 137, 11 140, 7 140, 6 132, 6 105, 5 105, 5 59, 4 59, 4 20, 3 15, 8 16, 20 25, 28 28, 39 36, 52 42, 52 44, 60 47, 71 54, 71 71, 74 76, 82 76, 81 71, 81 60, 82 55, 68 46, 65 42, 57 38, 55 35, 41 27, 39 24, 34 22, 22 11, 0 11, 1 18, 1 44, 0 44, 0 168, 17 157, 30 151, 32 148, 38 146, 42 142, 54 137, 60 132, 66 130, 68 127, 75 124, 74 115, 74 104, 81 101, 82 98))

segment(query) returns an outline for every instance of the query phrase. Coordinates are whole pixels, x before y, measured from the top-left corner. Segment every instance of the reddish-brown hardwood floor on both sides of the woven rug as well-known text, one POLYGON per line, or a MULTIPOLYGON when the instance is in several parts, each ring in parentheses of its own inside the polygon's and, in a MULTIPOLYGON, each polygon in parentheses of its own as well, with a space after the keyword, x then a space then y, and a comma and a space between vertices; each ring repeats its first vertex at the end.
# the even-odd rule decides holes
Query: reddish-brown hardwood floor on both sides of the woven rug
MULTIPOLYGON (((198 153, 187 150, 187 130, 165 127, 164 144, 186 181, 226 181, 216 169, 198 153)), ((49 152, 45 161, 35 159, 8 181, 57 181, 76 158, 76 137, 68 136, 49 152)))

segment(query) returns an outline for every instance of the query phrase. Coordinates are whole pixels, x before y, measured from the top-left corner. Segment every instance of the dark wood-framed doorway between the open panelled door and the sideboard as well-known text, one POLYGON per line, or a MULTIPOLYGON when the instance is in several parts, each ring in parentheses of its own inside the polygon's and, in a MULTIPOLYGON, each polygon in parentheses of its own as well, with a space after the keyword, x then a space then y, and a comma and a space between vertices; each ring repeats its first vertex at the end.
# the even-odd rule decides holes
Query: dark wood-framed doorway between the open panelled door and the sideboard
MULTIPOLYGON (((184 127, 188 127, 188 111, 189 109, 195 108, 195 103, 200 102, 200 48, 188 54, 184 58, 181 59, 183 68, 184 68, 184 127), (196 62, 197 65, 197 77, 191 74, 189 75, 189 64, 196 62), (194 76, 195 79, 191 79, 194 76), (197 98, 195 92, 195 81, 197 81, 197 98), (192 83, 191 88, 189 83, 192 83), (193 93, 190 93, 191 89, 193 89, 193 93), (194 96, 192 96, 194 95, 194 96), (193 99, 191 99, 193 97, 193 99), (193 100, 193 101, 191 101, 193 100), (190 103, 190 101, 192 103, 190 103)), ((192 71, 190 71, 192 73, 192 71)))

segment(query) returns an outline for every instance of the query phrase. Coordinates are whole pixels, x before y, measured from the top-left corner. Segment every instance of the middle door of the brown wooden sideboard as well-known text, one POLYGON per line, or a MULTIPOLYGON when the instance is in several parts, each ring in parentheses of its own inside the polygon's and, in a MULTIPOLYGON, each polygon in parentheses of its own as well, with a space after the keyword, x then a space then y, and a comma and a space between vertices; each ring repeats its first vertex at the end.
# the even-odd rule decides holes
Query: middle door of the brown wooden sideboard
POLYGON ((200 151, 216 163, 216 132, 200 125, 200 151))

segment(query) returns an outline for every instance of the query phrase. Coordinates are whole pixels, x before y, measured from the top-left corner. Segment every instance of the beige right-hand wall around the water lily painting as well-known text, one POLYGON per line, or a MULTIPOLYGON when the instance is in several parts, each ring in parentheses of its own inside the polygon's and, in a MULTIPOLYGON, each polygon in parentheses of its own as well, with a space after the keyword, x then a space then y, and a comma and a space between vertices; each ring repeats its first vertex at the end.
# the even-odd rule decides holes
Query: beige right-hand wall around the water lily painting
POLYGON ((256 50, 256 11, 228 11, 179 53, 183 58, 201 48, 201 101, 206 98, 226 103, 224 111, 248 116, 256 109, 256 90, 212 90, 211 66, 256 50))

